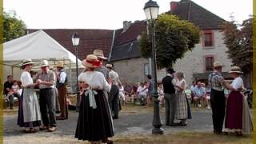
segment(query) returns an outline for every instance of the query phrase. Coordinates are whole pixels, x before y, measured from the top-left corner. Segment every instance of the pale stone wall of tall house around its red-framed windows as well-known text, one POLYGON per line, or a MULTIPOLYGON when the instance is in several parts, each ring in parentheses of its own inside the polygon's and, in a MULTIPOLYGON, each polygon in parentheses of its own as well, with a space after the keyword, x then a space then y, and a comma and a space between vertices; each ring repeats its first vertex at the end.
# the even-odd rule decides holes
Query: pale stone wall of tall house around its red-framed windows
POLYGON ((224 44, 224 35, 219 30, 213 30, 214 32, 214 46, 204 47, 202 40, 195 45, 194 50, 187 52, 184 58, 179 59, 174 64, 174 70, 182 70, 185 74, 186 83, 188 85, 194 80, 194 73, 204 73, 205 70, 205 57, 214 56, 214 61, 220 61, 224 64, 223 72, 230 71, 232 62, 227 58, 226 45, 224 44))

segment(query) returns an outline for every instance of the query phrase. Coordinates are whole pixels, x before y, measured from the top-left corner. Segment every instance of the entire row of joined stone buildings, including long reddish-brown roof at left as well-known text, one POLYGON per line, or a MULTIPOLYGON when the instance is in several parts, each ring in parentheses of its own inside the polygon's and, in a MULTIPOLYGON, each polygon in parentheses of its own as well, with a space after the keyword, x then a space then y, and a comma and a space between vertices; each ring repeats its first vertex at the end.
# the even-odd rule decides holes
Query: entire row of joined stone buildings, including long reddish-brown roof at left
MULTIPOLYGON (((225 67, 223 74, 229 78, 231 61, 227 58, 226 45, 224 44, 220 25, 225 22, 222 18, 204 9, 190 0, 170 2, 168 14, 175 14, 179 18, 194 23, 201 30, 200 42, 194 50, 185 54, 174 64, 175 70, 182 70, 186 76, 187 84, 193 80, 206 81, 212 70, 214 61, 221 61, 225 67)), ((123 22, 123 27, 118 30, 83 30, 83 29, 54 29, 44 30, 62 46, 74 54, 71 36, 74 32, 80 35, 78 58, 84 59, 86 54, 94 50, 104 51, 109 62, 114 64, 122 82, 144 82, 146 74, 151 74, 150 59, 142 58, 139 39, 142 31, 146 30, 146 21, 123 22)), ((31 33, 35 30, 28 30, 31 33)), ((74 73, 72 71, 71 73, 74 73)), ((157 70, 158 82, 166 75, 166 71, 157 70)), ((75 82, 75 78, 72 78, 75 82)), ((70 83, 70 86, 74 84, 70 83)))

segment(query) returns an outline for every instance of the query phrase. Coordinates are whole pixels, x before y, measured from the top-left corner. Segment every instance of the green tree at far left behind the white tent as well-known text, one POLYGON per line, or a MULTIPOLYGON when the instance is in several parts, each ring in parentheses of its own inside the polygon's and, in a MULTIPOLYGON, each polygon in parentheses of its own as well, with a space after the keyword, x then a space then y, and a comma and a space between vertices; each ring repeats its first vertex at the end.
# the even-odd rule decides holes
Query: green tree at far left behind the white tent
POLYGON ((19 38, 26 34, 25 23, 17 18, 14 11, 3 12, 3 42, 19 38))

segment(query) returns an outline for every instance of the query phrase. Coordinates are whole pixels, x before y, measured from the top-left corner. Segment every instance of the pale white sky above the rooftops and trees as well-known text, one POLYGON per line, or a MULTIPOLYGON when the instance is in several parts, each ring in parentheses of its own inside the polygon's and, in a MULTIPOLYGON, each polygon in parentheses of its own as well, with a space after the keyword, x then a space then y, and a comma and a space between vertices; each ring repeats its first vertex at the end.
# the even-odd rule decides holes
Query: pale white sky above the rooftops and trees
MULTIPOLYGON (((15 10, 30 29, 122 28, 123 21, 146 19, 143 7, 148 0, 4 0, 5 11, 15 10)), ((170 10, 172 0, 158 2, 159 14, 170 10)), ((179 0, 174 0, 178 2, 179 0)), ((230 21, 241 23, 253 11, 253 0, 193 0, 199 6, 230 21)))

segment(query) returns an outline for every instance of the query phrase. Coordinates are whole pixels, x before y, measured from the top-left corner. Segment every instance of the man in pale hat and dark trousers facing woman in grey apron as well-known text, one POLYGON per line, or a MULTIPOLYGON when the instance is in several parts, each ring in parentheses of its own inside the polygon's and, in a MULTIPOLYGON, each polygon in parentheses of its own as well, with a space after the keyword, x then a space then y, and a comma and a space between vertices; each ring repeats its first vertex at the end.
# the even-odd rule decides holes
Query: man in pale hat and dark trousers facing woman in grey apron
POLYGON ((42 130, 52 132, 56 130, 56 116, 55 116, 55 91, 54 82, 56 81, 55 74, 49 70, 49 62, 42 60, 42 73, 38 74, 39 83, 39 105, 42 114, 43 127, 42 130))

